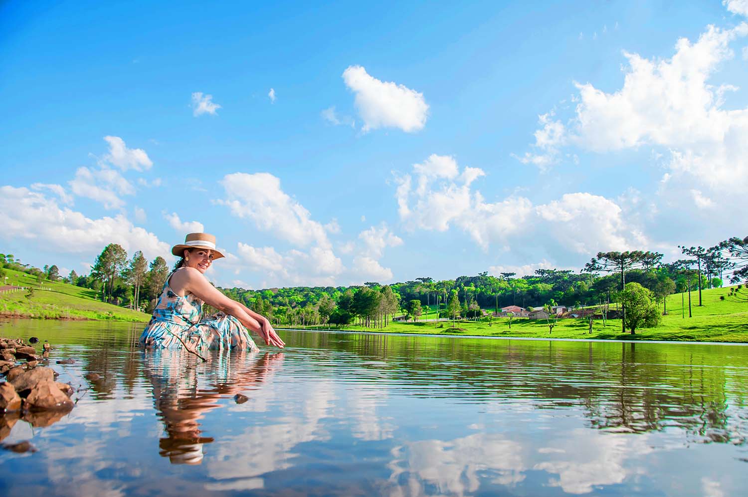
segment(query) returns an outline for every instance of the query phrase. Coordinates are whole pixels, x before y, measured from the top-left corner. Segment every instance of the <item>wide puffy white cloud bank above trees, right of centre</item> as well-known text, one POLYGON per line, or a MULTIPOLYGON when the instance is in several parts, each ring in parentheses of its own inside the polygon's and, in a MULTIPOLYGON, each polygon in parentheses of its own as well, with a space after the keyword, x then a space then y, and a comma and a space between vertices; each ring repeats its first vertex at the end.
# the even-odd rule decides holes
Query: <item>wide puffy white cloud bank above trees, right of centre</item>
POLYGON ((471 187, 482 174, 477 168, 460 172, 452 157, 430 156, 414 165, 412 176, 398 178, 400 219, 411 229, 459 228, 484 250, 510 240, 545 244, 549 251, 561 247, 573 254, 646 246, 643 234, 615 201, 577 192, 548 204, 533 205, 517 196, 487 202, 471 187))

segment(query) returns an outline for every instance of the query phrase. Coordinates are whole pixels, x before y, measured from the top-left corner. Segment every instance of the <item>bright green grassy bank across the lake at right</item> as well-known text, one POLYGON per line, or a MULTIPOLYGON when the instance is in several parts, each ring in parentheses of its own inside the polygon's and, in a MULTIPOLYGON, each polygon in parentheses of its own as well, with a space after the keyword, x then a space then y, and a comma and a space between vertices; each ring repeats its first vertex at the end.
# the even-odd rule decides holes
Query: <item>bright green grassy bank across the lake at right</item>
MULTIPOLYGON (((748 295, 748 289, 742 289, 748 295)), ((617 340, 663 340, 663 341, 715 341, 748 343, 748 303, 735 299, 720 300, 727 296, 728 288, 714 288, 702 291, 703 306, 698 307, 698 292, 691 293, 693 317, 688 317, 688 296, 684 296, 685 318, 681 317, 681 294, 667 299, 668 314, 663 316, 660 326, 651 329, 637 329, 636 335, 621 332, 621 320, 608 320, 603 326, 601 320, 593 323, 592 334, 588 333, 586 320, 558 320, 553 333, 548 333, 545 320, 513 319, 509 329, 508 318, 494 318, 492 326, 487 322, 457 321, 454 330, 452 322, 438 323, 390 323, 386 328, 373 329, 362 326, 343 326, 340 329, 361 332, 417 333, 424 335, 476 335, 495 337, 524 338, 595 338, 617 340), (441 326, 438 327, 438 326, 441 326)), ((615 308, 615 305, 613 305, 615 308)), ((282 326, 279 326, 281 328, 282 326)), ((335 329, 335 328, 333 328, 335 329)))

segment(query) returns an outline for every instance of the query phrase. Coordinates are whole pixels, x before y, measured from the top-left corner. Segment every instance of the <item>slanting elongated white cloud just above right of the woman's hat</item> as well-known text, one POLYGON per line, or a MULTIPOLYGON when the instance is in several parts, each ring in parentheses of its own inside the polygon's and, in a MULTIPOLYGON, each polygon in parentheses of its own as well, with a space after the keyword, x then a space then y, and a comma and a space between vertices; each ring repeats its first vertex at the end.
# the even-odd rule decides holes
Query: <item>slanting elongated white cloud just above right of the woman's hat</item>
POLYGON ((278 177, 269 173, 233 173, 224 176, 220 183, 226 200, 216 203, 229 207, 234 216, 251 219, 257 228, 296 246, 331 246, 325 227, 283 192, 278 177))

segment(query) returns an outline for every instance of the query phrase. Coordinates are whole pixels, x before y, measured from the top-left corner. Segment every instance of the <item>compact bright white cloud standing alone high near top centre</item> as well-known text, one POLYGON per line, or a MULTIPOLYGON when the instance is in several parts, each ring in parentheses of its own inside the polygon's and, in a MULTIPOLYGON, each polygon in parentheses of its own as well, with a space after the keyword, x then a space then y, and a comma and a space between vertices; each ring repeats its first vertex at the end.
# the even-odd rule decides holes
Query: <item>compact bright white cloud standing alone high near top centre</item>
POLYGON ((429 106, 423 94, 394 82, 382 82, 361 66, 349 66, 343 72, 343 80, 355 93, 364 132, 381 127, 413 132, 426 125, 429 106))

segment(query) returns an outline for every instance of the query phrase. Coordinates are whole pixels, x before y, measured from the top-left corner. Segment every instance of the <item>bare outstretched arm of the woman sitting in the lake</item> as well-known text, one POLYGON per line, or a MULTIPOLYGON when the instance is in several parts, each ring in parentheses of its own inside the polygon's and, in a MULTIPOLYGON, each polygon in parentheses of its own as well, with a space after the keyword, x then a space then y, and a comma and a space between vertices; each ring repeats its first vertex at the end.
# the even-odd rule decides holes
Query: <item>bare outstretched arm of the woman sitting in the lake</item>
POLYGON ((216 309, 236 317, 240 323, 260 335, 266 344, 276 347, 285 345, 265 317, 254 311, 248 312, 249 310, 244 305, 219 292, 197 269, 191 267, 180 269, 180 271, 174 273, 172 279, 174 278, 177 278, 174 286, 179 286, 207 305, 212 305, 216 309))

